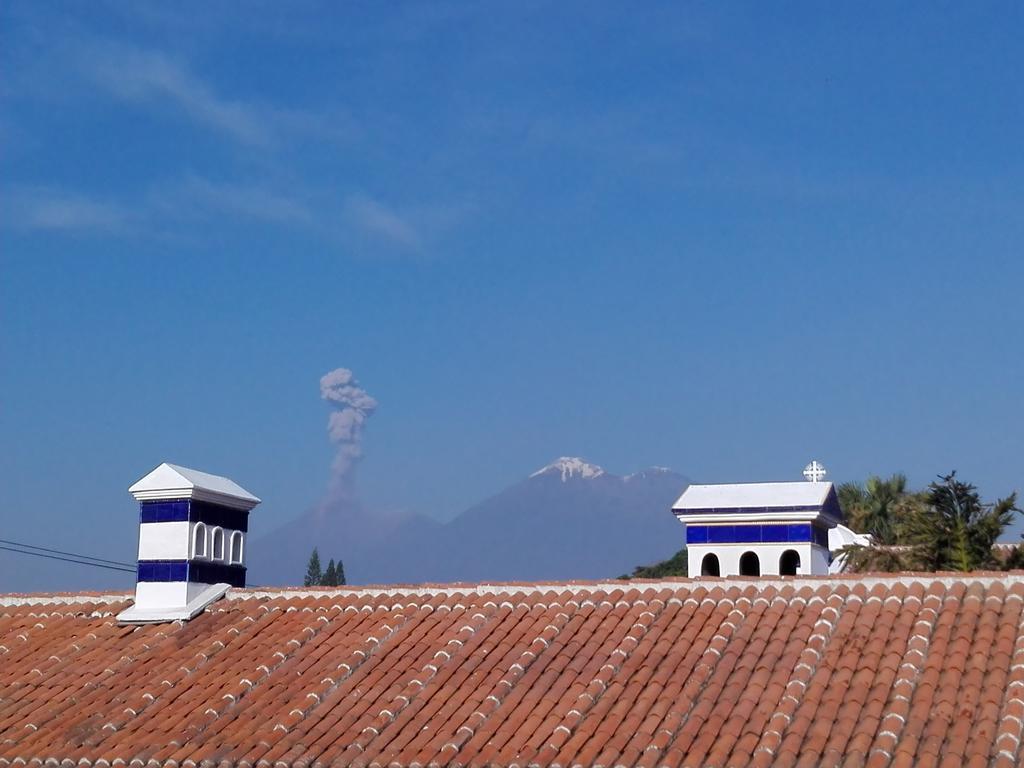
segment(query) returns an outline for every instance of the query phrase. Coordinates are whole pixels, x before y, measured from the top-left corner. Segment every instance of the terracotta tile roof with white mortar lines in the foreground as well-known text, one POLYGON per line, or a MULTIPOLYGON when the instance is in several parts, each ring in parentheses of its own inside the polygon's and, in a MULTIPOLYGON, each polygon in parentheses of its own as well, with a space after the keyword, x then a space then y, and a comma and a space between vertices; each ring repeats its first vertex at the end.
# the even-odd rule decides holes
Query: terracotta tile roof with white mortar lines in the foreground
POLYGON ((1014 766, 1024 575, 0 596, 0 766, 1014 766))

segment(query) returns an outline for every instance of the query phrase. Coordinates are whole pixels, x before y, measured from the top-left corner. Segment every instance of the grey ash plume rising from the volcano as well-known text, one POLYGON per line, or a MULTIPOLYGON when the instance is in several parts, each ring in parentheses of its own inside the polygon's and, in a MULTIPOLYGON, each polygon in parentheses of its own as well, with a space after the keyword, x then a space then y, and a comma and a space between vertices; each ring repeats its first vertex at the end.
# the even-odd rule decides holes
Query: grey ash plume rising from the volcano
POLYGON ((321 397, 335 409, 327 425, 336 446, 328 501, 338 501, 351 492, 352 466, 362 456, 362 427, 377 409, 377 400, 359 387, 347 368, 321 378, 321 397))

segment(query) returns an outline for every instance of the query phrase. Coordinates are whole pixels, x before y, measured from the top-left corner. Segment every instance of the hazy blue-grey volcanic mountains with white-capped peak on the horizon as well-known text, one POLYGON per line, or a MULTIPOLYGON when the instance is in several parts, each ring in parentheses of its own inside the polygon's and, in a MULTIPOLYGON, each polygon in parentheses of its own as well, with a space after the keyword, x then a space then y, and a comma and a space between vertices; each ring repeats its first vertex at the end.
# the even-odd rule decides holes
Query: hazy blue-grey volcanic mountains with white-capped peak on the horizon
POLYGON ((613 578, 683 546, 670 508, 687 484, 664 468, 622 477, 562 458, 443 524, 309 513, 253 542, 250 582, 297 583, 313 546, 340 555, 352 584, 613 578))

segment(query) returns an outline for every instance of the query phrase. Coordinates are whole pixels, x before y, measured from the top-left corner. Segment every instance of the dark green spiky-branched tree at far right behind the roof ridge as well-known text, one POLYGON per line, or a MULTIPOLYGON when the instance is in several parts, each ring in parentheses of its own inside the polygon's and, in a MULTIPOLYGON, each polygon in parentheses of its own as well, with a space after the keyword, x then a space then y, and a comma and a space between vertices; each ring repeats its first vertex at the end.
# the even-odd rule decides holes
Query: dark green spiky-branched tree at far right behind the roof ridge
POLYGON ((1017 494, 984 504, 974 485, 950 472, 928 486, 927 502, 906 534, 915 567, 967 571, 1000 566, 993 548, 1021 511, 1017 494))

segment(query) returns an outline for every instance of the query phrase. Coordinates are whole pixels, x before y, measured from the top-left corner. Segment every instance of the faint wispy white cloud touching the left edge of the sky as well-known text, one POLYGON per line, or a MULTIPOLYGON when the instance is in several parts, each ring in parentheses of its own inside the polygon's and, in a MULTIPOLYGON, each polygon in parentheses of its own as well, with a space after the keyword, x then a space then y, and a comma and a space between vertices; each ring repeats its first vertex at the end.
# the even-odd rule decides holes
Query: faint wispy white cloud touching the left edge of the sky
POLYGON ((16 229, 117 232, 129 224, 128 208, 50 187, 16 187, 3 195, 3 219, 16 229))

